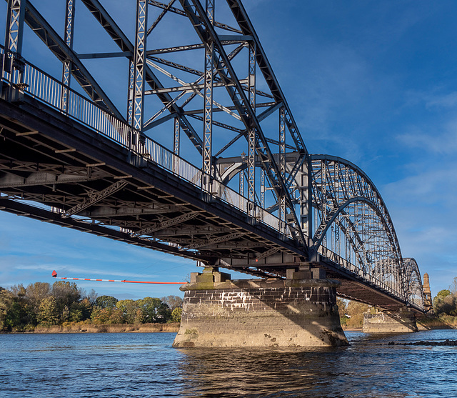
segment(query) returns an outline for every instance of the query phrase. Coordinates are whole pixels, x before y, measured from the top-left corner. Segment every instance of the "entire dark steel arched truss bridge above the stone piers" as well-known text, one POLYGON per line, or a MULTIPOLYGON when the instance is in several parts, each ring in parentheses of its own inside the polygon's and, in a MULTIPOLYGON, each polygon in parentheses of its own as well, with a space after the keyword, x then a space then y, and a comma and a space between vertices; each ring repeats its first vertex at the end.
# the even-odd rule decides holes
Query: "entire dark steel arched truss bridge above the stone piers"
POLYGON ((308 153, 241 1, 130 0, 118 22, 61 3, 53 26, 7 0, 2 210, 261 277, 323 267, 342 297, 423 312, 381 194, 308 153))

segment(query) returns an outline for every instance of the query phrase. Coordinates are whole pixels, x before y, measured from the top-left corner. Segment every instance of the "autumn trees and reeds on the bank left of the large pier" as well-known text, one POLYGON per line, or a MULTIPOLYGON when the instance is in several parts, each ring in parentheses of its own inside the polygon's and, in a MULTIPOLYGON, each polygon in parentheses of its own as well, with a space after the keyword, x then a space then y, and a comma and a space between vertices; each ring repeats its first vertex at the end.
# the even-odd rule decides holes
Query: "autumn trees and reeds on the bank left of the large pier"
POLYGON ((182 303, 178 296, 118 300, 64 281, 0 287, 0 332, 177 332, 182 303))

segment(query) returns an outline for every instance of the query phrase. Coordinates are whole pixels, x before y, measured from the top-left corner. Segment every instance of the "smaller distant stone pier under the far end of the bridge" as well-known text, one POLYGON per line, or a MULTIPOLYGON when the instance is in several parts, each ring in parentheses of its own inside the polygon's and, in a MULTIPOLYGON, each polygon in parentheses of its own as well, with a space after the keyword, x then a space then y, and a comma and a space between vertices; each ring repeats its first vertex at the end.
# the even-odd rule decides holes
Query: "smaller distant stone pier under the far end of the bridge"
POLYGON ((398 311, 376 309, 375 314, 363 314, 365 333, 408 333, 417 332, 416 315, 407 307, 398 311))

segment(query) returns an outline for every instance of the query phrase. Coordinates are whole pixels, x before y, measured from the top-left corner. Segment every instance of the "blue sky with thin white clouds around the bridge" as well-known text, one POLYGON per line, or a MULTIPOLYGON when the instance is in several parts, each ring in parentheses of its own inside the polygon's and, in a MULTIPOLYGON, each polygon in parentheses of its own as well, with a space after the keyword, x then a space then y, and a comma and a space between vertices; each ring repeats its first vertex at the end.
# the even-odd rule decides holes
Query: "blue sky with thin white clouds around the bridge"
MULTIPOLYGON (((64 1, 32 4, 63 30, 64 1)), ((102 4, 131 32, 134 1, 102 4)), ((308 151, 360 166, 381 191, 403 257, 416 258, 430 275, 433 295, 447 289, 457 277, 457 3, 246 0, 245 6, 308 151)), ((0 31, 5 9, 0 4, 0 31)), ((97 38, 76 36, 77 51, 107 51, 111 44, 94 21, 76 22, 80 31, 95 29, 97 38)), ((41 42, 30 43, 27 59, 60 71, 41 42)), ((114 72, 99 71, 106 73, 114 72)), ((70 277, 173 282, 196 271, 189 260, 0 212, 0 286, 53 282, 53 269, 70 277)), ((80 286, 118 298, 181 294, 177 287, 80 286)))

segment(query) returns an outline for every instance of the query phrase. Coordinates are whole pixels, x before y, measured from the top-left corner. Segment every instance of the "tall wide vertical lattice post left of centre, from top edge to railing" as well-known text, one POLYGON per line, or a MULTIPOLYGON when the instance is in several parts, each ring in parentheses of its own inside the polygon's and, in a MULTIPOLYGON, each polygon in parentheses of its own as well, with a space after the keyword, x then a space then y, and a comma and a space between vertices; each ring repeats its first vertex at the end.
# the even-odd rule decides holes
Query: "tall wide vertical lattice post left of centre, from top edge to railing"
POLYGON ((148 1, 136 2, 136 39, 134 54, 134 93, 133 93, 133 127, 143 128, 144 102, 144 66, 146 61, 146 24, 148 19, 148 1))

